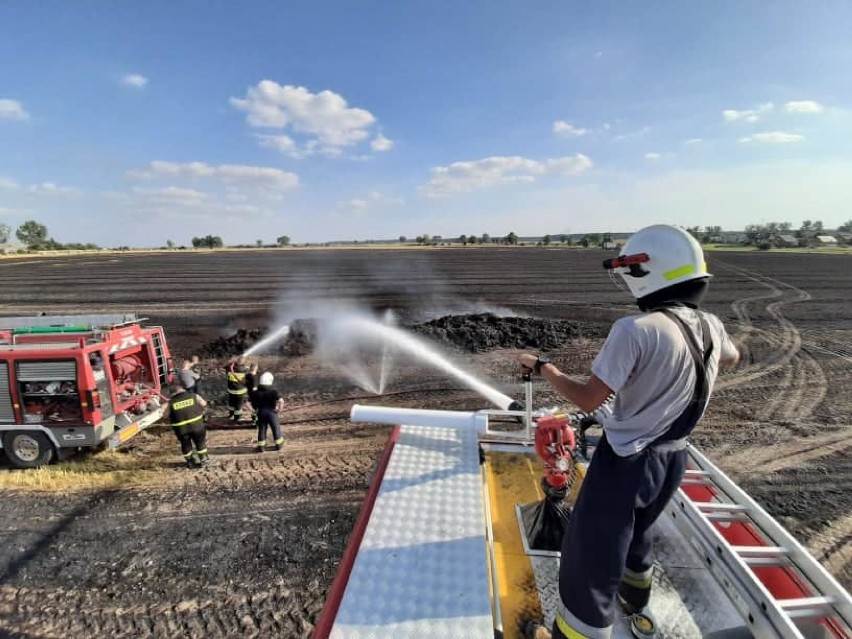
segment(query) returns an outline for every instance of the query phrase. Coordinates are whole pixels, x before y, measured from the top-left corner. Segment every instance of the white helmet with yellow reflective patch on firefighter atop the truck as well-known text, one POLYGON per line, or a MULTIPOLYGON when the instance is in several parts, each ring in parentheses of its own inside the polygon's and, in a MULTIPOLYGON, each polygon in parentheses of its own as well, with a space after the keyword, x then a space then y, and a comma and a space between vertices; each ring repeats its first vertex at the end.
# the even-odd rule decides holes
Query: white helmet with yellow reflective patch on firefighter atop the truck
POLYGON ((698 240, 669 224, 636 231, 618 257, 604 260, 604 268, 618 273, 636 299, 681 282, 712 277, 698 240))

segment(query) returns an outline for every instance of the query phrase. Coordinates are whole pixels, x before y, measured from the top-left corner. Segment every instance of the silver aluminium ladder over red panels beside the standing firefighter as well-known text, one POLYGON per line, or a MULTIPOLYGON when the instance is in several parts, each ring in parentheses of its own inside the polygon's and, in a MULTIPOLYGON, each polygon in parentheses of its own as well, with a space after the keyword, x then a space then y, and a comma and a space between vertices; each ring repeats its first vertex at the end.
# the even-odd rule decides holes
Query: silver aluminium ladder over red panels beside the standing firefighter
POLYGON ((760 505, 689 446, 667 512, 758 639, 852 638, 852 597, 760 505))

